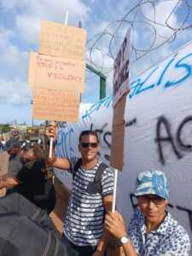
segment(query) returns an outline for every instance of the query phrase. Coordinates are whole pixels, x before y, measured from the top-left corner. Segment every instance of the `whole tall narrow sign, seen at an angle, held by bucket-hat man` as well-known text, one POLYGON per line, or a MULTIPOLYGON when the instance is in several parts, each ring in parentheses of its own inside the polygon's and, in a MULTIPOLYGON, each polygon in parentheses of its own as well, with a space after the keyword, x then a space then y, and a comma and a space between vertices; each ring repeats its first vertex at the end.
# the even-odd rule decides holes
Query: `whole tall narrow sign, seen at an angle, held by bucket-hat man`
POLYGON ((126 33, 123 44, 114 61, 113 70, 113 129, 111 166, 119 171, 123 169, 124 134, 125 134, 125 104, 129 87, 129 49, 131 30, 126 33))

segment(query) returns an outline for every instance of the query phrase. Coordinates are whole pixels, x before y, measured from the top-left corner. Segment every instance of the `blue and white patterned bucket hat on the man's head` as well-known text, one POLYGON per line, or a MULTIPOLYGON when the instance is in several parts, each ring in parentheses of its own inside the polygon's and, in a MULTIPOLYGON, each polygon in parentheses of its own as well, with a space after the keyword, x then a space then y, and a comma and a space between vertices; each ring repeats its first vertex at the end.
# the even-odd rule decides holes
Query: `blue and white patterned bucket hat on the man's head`
POLYGON ((149 170, 139 173, 134 195, 159 195, 169 198, 169 186, 164 172, 149 170))

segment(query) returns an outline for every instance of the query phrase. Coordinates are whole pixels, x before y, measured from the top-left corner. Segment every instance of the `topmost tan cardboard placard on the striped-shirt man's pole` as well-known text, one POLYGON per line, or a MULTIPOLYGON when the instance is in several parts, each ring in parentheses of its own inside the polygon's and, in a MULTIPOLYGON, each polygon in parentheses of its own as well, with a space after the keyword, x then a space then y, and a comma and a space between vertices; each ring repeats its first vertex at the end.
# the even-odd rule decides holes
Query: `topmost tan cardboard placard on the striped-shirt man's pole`
POLYGON ((84 60, 86 31, 42 20, 39 53, 84 60))

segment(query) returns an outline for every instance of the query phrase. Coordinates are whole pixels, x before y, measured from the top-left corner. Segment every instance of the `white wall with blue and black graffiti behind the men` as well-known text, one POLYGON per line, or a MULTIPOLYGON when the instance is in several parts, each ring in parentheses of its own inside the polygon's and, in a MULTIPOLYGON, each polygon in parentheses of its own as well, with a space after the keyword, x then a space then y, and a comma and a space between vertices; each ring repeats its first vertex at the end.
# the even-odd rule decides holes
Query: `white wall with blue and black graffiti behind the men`
MULTIPOLYGON (((185 177, 179 176, 183 178, 182 184, 179 184, 183 189, 176 191, 178 200, 172 201, 169 207, 183 220, 185 228, 189 227, 192 237, 192 206, 183 196, 186 192, 185 181, 190 182, 192 166, 190 160, 192 156, 191 79, 192 47, 189 46, 188 49, 172 55, 131 82, 131 92, 127 101, 129 109, 126 108, 128 114, 125 113, 125 135, 127 135, 127 142, 131 141, 132 144, 125 150, 126 155, 130 156, 133 153, 134 160, 130 164, 130 160, 126 157, 124 168, 131 169, 131 175, 135 177, 141 171, 143 163, 145 166, 161 166, 162 171, 167 173, 171 167, 175 175, 172 177, 172 184, 175 186, 173 189, 177 189, 176 177, 183 175, 177 163, 184 166, 185 160, 188 160, 187 169, 184 170, 185 177), (140 157, 143 157, 145 162, 139 162, 140 157), (153 164, 150 163, 152 160, 153 164)), ((96 131, 100 139, 102 160, 109 163, 112 141, 109 113, 112 113, 112 102, 113 97, 108 96, 92 104, 82 113, 78 124, 60 123, 57 154, 65 157, 75 156, 78 152, 79 133, 90 129, 96 131)), ((122 177, 126 179, 125 172, 122 177)), ((126 183, 126 188, 120 196, 129 195, 131 205, 130 209, 122 205, 122 212, 131 212, 131 207, 132 209, 136 207, 128 187, 126 183)), ((192 194, 192 190, 189 190, 187 193, 192 194)))

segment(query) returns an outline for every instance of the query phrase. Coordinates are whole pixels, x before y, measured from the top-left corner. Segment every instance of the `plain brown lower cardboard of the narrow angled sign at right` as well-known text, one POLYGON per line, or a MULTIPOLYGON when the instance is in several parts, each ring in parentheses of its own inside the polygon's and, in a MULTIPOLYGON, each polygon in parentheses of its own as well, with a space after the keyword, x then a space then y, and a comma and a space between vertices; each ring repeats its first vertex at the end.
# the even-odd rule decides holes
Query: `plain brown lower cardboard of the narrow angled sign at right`
POLYGON ((113 126, 111 143, 110 164, 119 171, 123 170, 124 155, 124 134, 125 134, 125 104, 126 96, 123 96, 118 104, 113 108, 113 126))

